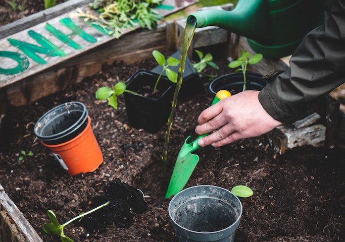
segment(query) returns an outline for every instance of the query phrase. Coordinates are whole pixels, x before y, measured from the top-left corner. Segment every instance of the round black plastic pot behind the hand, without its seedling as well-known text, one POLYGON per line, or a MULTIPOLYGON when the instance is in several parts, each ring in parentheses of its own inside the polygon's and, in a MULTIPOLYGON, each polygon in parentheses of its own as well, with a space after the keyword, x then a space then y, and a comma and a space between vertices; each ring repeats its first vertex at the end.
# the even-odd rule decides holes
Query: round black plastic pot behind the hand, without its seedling
MULTIPOLYGON (((267 81, 262 78, 261 74, 247 73, 245 77, 247 79, 248 90, 260 91, 267 85, 267 81)), ((216 95, 216 93, 222 89, 228 90, 229 92, 233 90, 242 91, 243 74, 230 73, 220 76, 211 82, 209 89, 213 95, 216 95)))

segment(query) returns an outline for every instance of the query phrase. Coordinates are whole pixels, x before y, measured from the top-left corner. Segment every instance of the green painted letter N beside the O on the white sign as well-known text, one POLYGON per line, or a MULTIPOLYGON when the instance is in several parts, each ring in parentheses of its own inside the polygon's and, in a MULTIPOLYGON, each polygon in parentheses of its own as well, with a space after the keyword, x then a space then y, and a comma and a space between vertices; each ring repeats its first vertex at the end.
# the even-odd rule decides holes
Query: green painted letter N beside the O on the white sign
POLYGON ((8 39, 9 42, 17 47, 18 49, 22 50, 24 54, 32 58, 35 62, 38 64, 46 64, 46 61, 44 61, 43 58, 41 58, 36 53, 46 54, 50 56, 66 56, 66 53, 60 49, 58 46, 44 38, 42 35, 36 33, 33 30, 29 30, 28 34, 36 40, 37 43, 39 43, 41 46, 30 44, 27 42, 23 42, 16 39, 8 39))

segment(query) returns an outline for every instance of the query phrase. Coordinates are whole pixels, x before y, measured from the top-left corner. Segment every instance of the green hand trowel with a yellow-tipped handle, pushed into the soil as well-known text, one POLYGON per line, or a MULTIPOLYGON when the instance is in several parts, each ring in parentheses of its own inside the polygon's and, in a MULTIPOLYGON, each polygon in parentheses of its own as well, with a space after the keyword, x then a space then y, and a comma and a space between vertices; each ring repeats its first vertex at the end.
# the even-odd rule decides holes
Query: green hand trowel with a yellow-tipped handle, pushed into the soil
MULTIPOLYGON (((230 96, 230 92, 226 90, 220 90, 217 92, 211 105, 230 96)), ((176 195, 177 193, 182 191, 184 186, 187 184, 189 177, 191 176, 194 168, 199 162, 199 156, 192 154, 192 152, 200 147, 198 145, 198 141, 201 138, 208 136, 209 134, 201 135, 192 142, 190 142, 191 136, 188 136, 187 139, 184 141, 181 150, 178 153, 165 198, 170 198, 172 195, 176 195)))

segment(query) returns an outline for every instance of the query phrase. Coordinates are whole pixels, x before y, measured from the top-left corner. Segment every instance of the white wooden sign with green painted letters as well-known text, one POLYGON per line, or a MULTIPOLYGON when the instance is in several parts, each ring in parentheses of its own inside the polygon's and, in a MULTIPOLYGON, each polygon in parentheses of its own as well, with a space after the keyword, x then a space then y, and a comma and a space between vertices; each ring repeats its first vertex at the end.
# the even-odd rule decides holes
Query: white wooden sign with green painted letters
MULTIPOLYGON (((157 10, 167 16, 196 2, 165 0, 157 10)), ((91 11, 87 6, 82 10, 91 11)), ((98 25, 85 22, 74 13, 76 10, 0 40, 0 88, 114 39, 98 25)), ((122 35, 138 28, 123 29, 122 35)))

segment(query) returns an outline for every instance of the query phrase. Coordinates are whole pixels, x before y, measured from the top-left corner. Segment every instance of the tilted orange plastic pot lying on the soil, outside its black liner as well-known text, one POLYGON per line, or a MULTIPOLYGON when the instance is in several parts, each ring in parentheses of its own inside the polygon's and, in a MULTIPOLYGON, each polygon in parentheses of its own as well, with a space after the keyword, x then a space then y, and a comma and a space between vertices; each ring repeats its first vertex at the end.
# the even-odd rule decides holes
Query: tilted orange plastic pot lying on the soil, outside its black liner
POLYGON ((87 116, 86 128, 75 138, 58 145, 42 144, 53 152, 60 164, 71 175, 92 172, 103 162, 100 146, 91 129, 91 118, 87 116))

